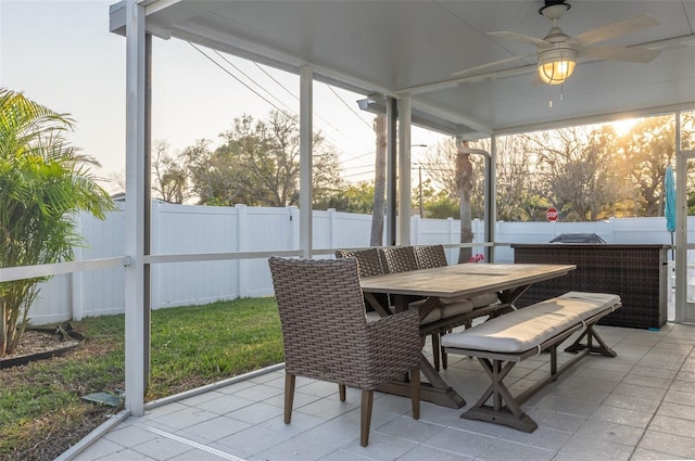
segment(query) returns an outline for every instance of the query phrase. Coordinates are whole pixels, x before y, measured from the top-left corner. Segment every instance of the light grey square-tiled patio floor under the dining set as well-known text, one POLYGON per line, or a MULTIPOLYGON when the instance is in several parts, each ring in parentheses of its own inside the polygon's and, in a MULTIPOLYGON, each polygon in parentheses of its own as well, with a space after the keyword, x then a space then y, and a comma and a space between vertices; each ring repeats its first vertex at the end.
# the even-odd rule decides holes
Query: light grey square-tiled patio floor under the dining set
MULTIPOLYGON (((589 356, 523 404, 532 434, 460 419, 422 402, 375 394, 369 446, 359 446, 359 392, 298 379, 292 423, 282 422, 282 370, 252 375, 127 418, 70 459, 125 460, 672 460, 695 458, 695 326, 599 326, 618 357, 589 356)), ((571 341, 571 338, 570 338, 571 341)), ((568 355, 563 353, 561 358, 568 355)), ((477 361, 448 356, 443 372, 468 406, 486 387, 477 361)), ((516 367, 513 392, 547 370, 548 355, 516 367)))

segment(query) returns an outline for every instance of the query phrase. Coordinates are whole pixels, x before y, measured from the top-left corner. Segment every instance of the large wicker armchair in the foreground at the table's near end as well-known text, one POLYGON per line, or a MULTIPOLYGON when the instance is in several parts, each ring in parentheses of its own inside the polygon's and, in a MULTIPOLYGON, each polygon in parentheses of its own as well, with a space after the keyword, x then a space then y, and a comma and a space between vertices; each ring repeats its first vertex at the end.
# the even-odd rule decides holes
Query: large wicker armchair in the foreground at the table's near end
POLYGON ((359 443, 369 441, 374 389, 409 372, 413 418, 420 417, 417 311, 367 322, 357 261, 268 259, 285 344, 285 423, 292 418, 296 376, 362 389, 359 443))

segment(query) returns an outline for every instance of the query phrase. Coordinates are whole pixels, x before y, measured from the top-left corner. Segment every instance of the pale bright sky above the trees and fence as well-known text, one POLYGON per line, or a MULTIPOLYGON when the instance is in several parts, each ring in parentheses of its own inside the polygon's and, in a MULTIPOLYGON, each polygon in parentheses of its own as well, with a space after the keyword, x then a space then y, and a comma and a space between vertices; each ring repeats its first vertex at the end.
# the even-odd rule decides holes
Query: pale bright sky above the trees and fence
MULTIPOLYGON (((109 31, 113 3, 0 0, 0 87, 71 114, 71 142, 99 161, 94 174, 102 178, 125 171, 126 40, 109 31)), ((172 155, 199 139, 218 145, 218 135, 243 114, 299 112, 299 76, 178 39, 153 38, 152 68, 152 139, 168 142, 172 155)), ((338 149, 349 181, 374 172, 374 115, 359 111, 362 98, 314 85, 314 129, 338 149)), ((413 128, 413 144, 441 138, 413 128)), ((413 148, 415 164, 426 150, 413 148)))

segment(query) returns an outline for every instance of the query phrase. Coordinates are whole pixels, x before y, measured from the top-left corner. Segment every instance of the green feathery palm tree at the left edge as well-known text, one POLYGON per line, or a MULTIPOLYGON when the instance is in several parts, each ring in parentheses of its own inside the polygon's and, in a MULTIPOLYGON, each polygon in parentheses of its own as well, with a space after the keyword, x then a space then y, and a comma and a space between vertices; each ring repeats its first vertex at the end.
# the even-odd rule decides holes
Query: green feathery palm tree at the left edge
MULTIPOLYGON (((68 145, 74 121, 0 88, 0 267, 60 262, 83 244, 74 214, 103 219, 114 205, 96 182, 91 157, 68 145)), ((12 354, 38 295, 34 278, 0 283, 0 357, 12 354)))

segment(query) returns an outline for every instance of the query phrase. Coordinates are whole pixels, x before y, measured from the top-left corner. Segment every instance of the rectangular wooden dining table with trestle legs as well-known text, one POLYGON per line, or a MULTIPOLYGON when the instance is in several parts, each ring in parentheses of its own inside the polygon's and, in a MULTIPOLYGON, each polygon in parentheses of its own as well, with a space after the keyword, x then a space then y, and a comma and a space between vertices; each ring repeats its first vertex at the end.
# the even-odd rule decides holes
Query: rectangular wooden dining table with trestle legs
MULTIPOLYGON (((504 312, 505 309, 514 309, 514 300, 533 283, 565 276, 576 268, 574 265, 462 264, 367 277, 361 280, 361 285, 369 304, 382 316, 390 315, 391 310, 379 305, 375 293, 389 294, 395 311, 407 309, 413 296, 425 297, 426 302, 418 304, 420 319, 435 308, 440 299, 471 298, 495 293, 498 303, 473 309, 472 318, 488 313, 494 316, 504 312)), ((444 381, 424 354, 420 354, 420 371, 427 380, 421 383, 422 400, 451 408, 462 408, 466 405, 464 398, 444 381)), ((386 383, 379 390, 409 396, 409 385, 405 380, 386 383)))

